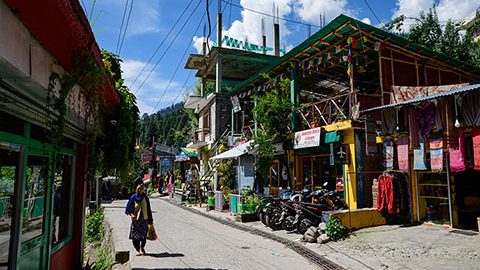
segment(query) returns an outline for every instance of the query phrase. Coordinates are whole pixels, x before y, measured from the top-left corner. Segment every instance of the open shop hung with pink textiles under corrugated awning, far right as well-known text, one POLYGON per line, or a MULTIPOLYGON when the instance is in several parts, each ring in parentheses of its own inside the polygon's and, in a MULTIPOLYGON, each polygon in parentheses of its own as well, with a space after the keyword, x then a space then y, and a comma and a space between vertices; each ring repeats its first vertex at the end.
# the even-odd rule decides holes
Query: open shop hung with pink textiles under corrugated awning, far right
POLYGON ((394 90, 397 102, 380 107, 384 121, 389 115, 393 119, 382 141, 384 167, 411 179, 413 219, 429 225, 478 228, 480 85, 394 90), (430 95, 400 99, 406 91, 430 95))

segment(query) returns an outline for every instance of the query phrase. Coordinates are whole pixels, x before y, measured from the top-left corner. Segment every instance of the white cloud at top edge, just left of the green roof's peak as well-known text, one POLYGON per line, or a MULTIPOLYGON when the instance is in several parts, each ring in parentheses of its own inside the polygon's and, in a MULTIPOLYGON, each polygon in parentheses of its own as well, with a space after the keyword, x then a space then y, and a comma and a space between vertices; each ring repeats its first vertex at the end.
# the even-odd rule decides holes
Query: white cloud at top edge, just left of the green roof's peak
POLYGON ((325 14, 327 23, 342 13, 353 15, 354 12, 348 9, 347 5, 347 0, 297 0, 295 13, 303 21, 318 25, 320 15, 325 14))

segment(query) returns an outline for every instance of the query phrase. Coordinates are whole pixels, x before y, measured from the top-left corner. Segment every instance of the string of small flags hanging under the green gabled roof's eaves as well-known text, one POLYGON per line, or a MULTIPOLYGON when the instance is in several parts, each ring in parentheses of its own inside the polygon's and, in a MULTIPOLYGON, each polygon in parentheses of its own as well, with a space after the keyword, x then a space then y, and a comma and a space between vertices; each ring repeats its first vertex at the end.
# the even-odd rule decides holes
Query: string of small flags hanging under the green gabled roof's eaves
MULTIPOLYGON (((347 75, 350 77, 353 68, 353 49, 365 48, 368 43, 370 43, 370 40, 366 36, 361 36, 359 39, 348 37, 342 44, 332 47, 319 56, 304 61, 291 61, 290 68, 301 70, 303 72, 303 77, 305 77, 305 75, 311 74, 312 69, 318 71, 320 67, 327 67, 332 59, 338 59, 339 63, 343 62, 347 65, 347 75)), ((375 51, 381 51, 386 48, 384 42, 376 41, 373 45, 375 51)), ((280 80, 283 80, 284 77, 285 74, 280 74, 276 76, 273 81, 253 86, 250 90, 240 93, 238 97, 244 98, 254 93, 266 92, 272 89, 280 80)))

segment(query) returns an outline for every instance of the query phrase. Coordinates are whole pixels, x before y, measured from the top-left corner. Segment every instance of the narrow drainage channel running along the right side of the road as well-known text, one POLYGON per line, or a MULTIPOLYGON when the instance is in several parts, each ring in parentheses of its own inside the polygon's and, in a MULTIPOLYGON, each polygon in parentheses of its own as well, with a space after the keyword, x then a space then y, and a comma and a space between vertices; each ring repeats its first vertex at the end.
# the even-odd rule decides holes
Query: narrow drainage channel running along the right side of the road
POLYGON ((262 236, 262 237, 268 238, 270 240, 273 240, 273 241, 279 242, 281 244, 284 244, 285 246, 287 246, 291 250, 300 254, 300 256, 308 259, 310 262, 319 266, 321 269, 325 269, 325 270, 344 270, 345 269, 345 268, 341 267, 340 265, 326 259, 325 257, 313 252, 312 250, 308 249, 307 247, 303 246, 302 244, 290 241, 288 239, 285 239, 283 237, 274 235, 274 234, 269 233, 269 232, 265 232, 265 231, 255 229, 255 228, 250 228, 248 226, 241 225, 241 224, 235 223, 235 222, 227 220, 227 219, 214 217, 214 216, 208 215, 206 213, 203 213, 203 212, 201 212, 197 209, 183 207, 183 206, 181 206, 179 204, 176 204, 176 203, 173 203, 169 200, 165 200, 165 201, 172 204, 172 205, 180 207, 184 210, 187 210, 187 211, 195 213, 197 215, 201 215, 201 216, 204 216, 206 218, 215 220, 216 222, 222 223, 222 224, 230 226, 232 228, 235 228, 235 229, 238 229, 238 230, 241 230, 241 231, 245 231, 245 232, 249 232, 249 233, 254 234, 254 235, 262 236))

